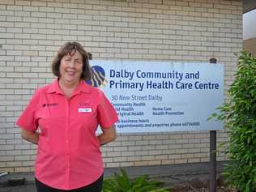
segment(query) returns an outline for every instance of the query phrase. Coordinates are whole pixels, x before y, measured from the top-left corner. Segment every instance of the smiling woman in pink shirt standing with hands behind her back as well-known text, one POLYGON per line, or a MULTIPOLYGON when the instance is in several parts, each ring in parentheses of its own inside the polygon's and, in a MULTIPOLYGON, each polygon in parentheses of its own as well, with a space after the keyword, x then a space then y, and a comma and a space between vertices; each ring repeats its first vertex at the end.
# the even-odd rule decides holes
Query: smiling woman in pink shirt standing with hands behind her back
POLYGON ((100 146, 116 139, 117 113, 100 89, 84 83, 91 73, 79 43, 63 45, 52 70, 58 79, 35 92, 17 121, 22 138, 38 144, 36 189, 100 192, 100 146))

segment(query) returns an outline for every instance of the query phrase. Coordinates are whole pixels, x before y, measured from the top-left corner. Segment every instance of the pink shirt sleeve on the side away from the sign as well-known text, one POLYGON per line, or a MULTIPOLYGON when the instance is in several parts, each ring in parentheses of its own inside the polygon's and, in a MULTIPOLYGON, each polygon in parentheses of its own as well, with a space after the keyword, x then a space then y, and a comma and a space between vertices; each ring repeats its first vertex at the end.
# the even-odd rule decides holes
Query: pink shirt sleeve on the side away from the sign
POLYGON ((16 124, 20 128, 24 130, 31 130, 33 132, 36 131, 38 127, 38 122, 36 120, 36 109, 37 105, 39 103, 39 94, 38 92, 35 92, 35 94, 32 96, 32 99, 29 101, 26 109, 21 113, 19 116, 16 124))

